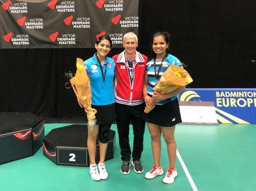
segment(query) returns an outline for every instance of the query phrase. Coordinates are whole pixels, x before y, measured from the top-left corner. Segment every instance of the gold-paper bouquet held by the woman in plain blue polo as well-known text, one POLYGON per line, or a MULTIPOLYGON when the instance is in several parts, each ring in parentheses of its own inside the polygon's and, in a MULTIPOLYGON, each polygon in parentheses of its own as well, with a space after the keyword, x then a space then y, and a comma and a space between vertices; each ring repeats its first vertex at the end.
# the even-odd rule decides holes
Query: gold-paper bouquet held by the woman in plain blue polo
POLYGON ((77 101, 81 107, 86 107, 89 113, 87 114, 88 125, 92 129, 95 125, 96 109, 92 108, 92 92, 90 87, 90 79, 86 74, 83 60, 76 58, 76 75, 72 77, 70 83, 76 94, 77 101))

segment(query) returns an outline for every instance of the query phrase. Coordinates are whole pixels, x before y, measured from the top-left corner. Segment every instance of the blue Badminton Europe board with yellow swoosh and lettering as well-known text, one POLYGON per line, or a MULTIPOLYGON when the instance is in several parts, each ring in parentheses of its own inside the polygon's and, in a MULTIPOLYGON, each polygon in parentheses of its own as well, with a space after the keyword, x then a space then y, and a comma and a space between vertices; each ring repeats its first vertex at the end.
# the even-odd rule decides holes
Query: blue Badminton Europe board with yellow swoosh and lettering
POLYGON ((213 101, 219 123, 256 124, 256 89, 188 88, 180 101, 213 101))

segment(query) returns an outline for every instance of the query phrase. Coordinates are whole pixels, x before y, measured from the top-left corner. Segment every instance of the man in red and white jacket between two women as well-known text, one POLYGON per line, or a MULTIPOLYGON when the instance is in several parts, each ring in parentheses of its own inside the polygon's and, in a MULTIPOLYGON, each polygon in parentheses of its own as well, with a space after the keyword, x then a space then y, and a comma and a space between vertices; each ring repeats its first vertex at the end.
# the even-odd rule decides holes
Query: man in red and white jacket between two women
POLYGON ((138 38, 133 32, 124 35, 124 52, 113 56, 116 64, 115 99, 116 125, 121 148, 121 173, 128 174, 132 165, 134 171, 142 173, 141 153, 143 151, 143 136, 145 121, 141 119, 144 111, 142 95, 144 73, 147 56, 136 51, 138 38), (129 144, 129 125, 133 127, 133 150, 129 144))

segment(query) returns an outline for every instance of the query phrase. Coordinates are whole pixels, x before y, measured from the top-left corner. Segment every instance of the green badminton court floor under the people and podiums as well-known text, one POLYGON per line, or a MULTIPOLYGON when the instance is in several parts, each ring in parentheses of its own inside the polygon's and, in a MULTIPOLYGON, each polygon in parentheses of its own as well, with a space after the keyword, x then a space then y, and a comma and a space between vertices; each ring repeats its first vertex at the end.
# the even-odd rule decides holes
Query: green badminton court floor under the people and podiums
MULTIPOLYGON (((45 124, 45 135, 53 128, 70 124, 45 124)), ((112 130, 117 132, 116 125, 112 130)), ((130 142, 132 145, 132 128, 130 142)), ((164 184, 164 175, 147 180, 152 168, 150 135, 146 129, 142 165, 144 172, 120 173, 121 159, 116 133, 114 159, 105 162, 109 178, 92 181, 89 167, 61 166, 43 155, 43 148, 31 157, 0 165, 1 191, 85 191, 85 190, 202 190, 251 191, 256 188, 256 125, 219 124, 177 125, 175 138, 178 176, 173 184, 164 184)), ((8 153, 7 153, 8 154, 8 153)), ((0 156, 1 157, 1 156, 0 156)), ((162 140, 161 164, 168 168, 166 146, 162 140)), ((165 173, 164 173, 165 174, 165 173)))

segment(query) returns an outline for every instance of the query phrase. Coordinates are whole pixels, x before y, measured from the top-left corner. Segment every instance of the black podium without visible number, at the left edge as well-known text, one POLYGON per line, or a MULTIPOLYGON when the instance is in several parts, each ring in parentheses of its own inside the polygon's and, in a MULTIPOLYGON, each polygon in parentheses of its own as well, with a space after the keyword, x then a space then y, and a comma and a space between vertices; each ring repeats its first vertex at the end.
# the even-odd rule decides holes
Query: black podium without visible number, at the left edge
POLYGON ((42 147, 44 120, 32 113, 0 113, 0 164, 32 156, 42 147))

